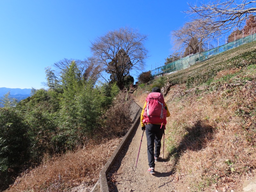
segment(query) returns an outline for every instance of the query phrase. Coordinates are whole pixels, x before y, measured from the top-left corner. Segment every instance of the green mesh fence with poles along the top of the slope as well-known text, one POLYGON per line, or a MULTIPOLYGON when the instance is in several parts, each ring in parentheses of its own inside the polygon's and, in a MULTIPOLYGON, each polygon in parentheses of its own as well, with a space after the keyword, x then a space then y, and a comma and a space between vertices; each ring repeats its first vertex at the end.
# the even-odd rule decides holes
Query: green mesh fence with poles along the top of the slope
POLYGON ((180 71, 182 69, 188 68, 191 65, 194 65, 195 63, 198 63, 198 62, 209 59, 213 55, 217 55, 221 52, 233 49, 233 48, 238 47, 242 44, 246 44, 246 43, 250 43, 252 41, 255 41, 256 40, 256 35, 255 36, 254 35, 255 34, 252 34, 252 35, 243 37, 241 39, 232 41, 230 43, 221 45, 219 47, 210 49, 208 51, 204 51, 204 52, 201 52, 201 53, 196 53, 194 55, 190 55, 190 56, 184 57, 180 60, 176 60, 174 62, 168 63, 167 65, 164 65, 162 67, 151 70, 151 75, 153 77, 156 77, 156 76, 159 77, 159 76, 163 76, 165 74, 172 74, 172 73, 175 73, 175 72, 180 71))

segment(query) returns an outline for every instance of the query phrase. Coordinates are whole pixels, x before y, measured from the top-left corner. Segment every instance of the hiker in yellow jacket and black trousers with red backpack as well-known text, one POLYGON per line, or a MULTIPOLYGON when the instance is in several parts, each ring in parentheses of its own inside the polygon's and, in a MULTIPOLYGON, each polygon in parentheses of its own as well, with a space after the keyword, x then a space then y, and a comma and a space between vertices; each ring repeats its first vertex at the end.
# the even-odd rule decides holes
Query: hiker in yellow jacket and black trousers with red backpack
POLYGON ((158 87, 154 87, 152 92, 148 94, 140 115, 141 129, 142 131, 146 131, 149 165, 148 172, 151 174, 155 174, 155 162, 159 160, 161 139, 164 134, 166 117, 169 116, 170 112, 166 103, 164 102, 164 97, 161 94, 161 90, 158 87), (154 110, 152 110, 152 108, 154 108, 154 110), (154 113, 151 111, 155 111, 155 113, 158 115, 150 114, 154 113))

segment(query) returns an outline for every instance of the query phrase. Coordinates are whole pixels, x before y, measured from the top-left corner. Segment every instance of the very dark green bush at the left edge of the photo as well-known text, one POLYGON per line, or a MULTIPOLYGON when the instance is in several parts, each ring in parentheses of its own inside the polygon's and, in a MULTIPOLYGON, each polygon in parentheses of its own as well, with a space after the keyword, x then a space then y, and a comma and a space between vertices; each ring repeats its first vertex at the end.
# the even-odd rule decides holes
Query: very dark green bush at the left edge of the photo
POLYGON ((28 160, 28 126, 12 108, 0 108, 0 171, 21 166, 28 160))

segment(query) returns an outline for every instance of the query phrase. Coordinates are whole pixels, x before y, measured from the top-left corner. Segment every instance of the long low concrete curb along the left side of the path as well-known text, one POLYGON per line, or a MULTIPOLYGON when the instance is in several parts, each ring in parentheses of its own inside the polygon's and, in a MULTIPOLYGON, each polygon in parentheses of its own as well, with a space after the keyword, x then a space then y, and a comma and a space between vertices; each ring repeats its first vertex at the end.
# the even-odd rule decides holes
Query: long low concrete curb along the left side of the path
POLYGON ((126 143, 126 141, 128 140, 132 130, 134 129, 134 127, 138 124, 138 122, 140 121, 140 111, 141 111, 141 107, 136 103, 136 102, 132 102, 132 106, 131 106, 131 116, 136 117, 133 118, 135 119, 131 128, 129 129, 129 131, 126 133, 126 135, 124 136, 123 140, 120 142, 120 144, 118 145, 118 147, 116 148, 116 150, 114 151, 114 153, 112 154, 112 156, 108 159, 108 162, 104 165, 104 167, 101 169, 100 171, 100 179, 98 180, 98 182, 94 185, 94 187, 92 188, 91 192, 93 191, 99 191, 98 189, 95 190, 96 188, 99 188, 100 185, 100 191, 101 192, 109 192, 108 189, 108 180, 107 180, 107 173, 110 170, 110 168, 112 167, 112 165, 114 164, 114 161, 116 160, 116 157, 119 155, 120 151, 122 150, 122 148, 124 147, 124 144, 126 143), (98 187, 97 187, 98 185, 98 187))

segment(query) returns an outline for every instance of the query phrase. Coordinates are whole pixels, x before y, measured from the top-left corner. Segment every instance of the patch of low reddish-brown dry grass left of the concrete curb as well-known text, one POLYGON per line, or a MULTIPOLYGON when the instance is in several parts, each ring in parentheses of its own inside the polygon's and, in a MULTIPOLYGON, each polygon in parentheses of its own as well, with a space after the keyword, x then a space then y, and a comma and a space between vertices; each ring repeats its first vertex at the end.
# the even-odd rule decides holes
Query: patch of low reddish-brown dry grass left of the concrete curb
POLYGON ((75 153, 55 158, 24 172, 6 191, 71 191, 81 183, 84 191, 90 191, 120 140, 112 139, 101 145, 89 144, 75 153))

